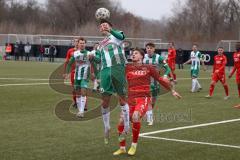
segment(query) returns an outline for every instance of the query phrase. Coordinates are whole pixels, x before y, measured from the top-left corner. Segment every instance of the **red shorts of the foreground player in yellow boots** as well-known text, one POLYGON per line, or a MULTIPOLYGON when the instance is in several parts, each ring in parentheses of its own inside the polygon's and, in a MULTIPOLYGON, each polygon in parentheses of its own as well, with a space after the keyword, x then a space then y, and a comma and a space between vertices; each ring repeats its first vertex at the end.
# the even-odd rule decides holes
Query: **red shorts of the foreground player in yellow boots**
POLYGON ((148 111, 148 105, 151 103, 150 97, 139 97, 129 99, 129 112, 132 117, 134 111, 138 111, 140 116, 143 117, 148 111))

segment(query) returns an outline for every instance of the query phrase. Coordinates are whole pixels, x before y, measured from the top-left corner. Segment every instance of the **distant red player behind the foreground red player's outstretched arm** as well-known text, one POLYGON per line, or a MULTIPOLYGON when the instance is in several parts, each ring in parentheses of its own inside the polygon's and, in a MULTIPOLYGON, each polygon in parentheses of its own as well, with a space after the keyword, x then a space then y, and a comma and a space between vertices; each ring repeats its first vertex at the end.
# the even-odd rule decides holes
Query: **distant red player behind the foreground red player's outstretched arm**
POLYGON ((175 74, 175 66, 176 66, 176 49, 174 47, 174 42, 170 42, 169 43, 169 48, 168 48, 168 59, 167 59, 167 62, 168 62, 168 66, 170 67, 171 69, 171 73, 172 73, 172 78, 174 80, 174 82, 176 82, 177 80, 177 76, 175 74))

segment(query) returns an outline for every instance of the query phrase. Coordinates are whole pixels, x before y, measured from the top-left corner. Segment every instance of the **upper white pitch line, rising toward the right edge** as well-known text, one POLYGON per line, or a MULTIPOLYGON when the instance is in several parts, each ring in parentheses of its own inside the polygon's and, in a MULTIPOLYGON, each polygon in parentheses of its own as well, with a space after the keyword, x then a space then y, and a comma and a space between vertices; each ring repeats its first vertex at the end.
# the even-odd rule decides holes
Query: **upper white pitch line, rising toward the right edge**
POLYGON ((190 128, 206 127, 206 126, 225 124, 225 123, 231 123, 231 122, 237 122, 237 121, 240 121, 240 119, 231 119, 231 120, 225 120, 225 121, 219 121, 219 122, 203 123, 203 124, 198 124, 198 125, 191 125, 191 126, 158 130, 158 131, 153 131, 153 132, 146 132, 146 133, 141 133, 140 136, 147 136, 147 135, 152 135, 152 134, 156 134, 156 133, 166 133, 166 132, 172 132, 172 131, 178 131, 178 130, 184 130, 184 129, 190 129, 190 128))

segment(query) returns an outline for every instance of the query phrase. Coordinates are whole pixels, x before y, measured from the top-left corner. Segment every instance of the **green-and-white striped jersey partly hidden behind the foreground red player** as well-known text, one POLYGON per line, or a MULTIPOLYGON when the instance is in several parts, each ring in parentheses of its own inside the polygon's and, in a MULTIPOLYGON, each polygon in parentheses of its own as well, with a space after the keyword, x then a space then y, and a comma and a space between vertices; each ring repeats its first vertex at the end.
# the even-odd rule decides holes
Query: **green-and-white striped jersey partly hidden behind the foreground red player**
POLYGON ((143 59, 143 63, 144 64, 151 64, 151 65, 156 65, 157 68, 164 68, 165 72, 164 75, 167 76, 171 70, 168 66, 168 64, 166 63, 165 59, 160 56, 159 54, 154 53, 152 57, 149 57, 148 54, 145 54, 144 59, 143 59))

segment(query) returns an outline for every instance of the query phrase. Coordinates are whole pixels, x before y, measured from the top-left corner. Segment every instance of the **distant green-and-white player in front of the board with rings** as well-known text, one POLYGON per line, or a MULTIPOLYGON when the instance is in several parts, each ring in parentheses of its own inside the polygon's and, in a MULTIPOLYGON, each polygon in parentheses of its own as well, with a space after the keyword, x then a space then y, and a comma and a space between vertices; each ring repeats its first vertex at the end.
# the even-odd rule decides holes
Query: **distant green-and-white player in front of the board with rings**
POLYGON ((190 59, 184 63, 188 64, 191 63, 191 78, 192 78, 192 89, 191 92, 199 92, 202 87, 200 83, 198 82, 198 76, 199 76, 199 71, 200 71, 200 65, 202 63, 204 71, 206 70, 204 61, 203 61, 203 55, 201 54, 200 51, 198 51, 198 46, 196 44, 193 45, 192 47, 192 52, 190 55, 190 59))

